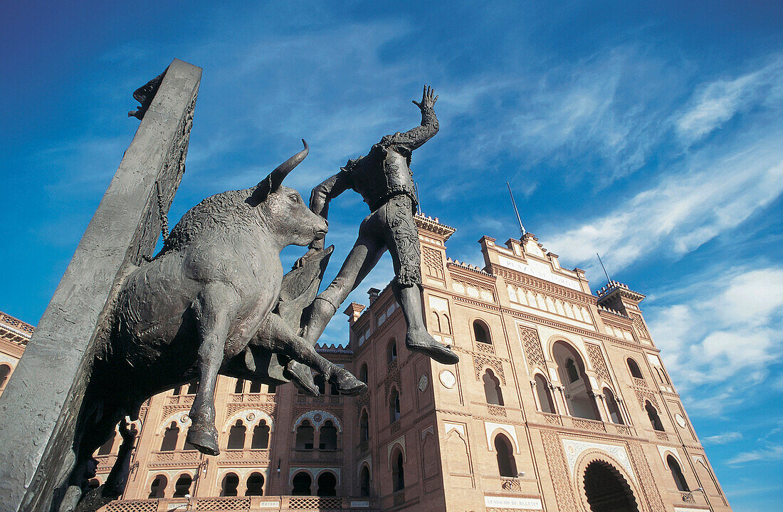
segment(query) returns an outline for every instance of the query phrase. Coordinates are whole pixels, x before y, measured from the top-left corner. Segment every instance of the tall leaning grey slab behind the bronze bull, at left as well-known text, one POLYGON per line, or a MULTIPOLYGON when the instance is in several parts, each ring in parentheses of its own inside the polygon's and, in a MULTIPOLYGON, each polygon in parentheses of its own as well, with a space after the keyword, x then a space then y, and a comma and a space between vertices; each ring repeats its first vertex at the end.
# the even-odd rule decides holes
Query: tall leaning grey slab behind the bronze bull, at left
POLYGON ((67 466, 101 313, 151 255, 185 171, 201 68, 175 59, 0 397, 0 512, 49 512, 67 466))

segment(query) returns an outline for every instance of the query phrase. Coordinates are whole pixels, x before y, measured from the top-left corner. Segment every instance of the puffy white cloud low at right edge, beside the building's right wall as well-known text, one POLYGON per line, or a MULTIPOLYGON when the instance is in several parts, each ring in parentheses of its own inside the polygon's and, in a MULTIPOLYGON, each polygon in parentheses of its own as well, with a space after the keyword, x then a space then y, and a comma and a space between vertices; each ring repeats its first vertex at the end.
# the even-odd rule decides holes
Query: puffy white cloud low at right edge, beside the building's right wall
POLYGON ((693 281, 659 295, 647 318, 678 390, 699 397, 689 409, 716 415, 774 377, 783 358, 783 268, 726 268, 693 281))

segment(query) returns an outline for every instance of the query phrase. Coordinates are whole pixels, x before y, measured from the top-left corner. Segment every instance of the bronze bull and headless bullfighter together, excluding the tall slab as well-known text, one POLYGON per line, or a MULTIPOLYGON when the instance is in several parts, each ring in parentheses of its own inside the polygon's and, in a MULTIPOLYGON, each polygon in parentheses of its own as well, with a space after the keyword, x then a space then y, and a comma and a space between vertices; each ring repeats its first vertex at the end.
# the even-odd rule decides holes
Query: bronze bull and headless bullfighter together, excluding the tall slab
MULTIPOLYGON (((341 394, 356 395, 366 384, 319 355, 314 346, 337 306, 377 264, 385 251, 395 268, 392 290, 406 319, 406 346, 444 364, 458 356, 424 326, 417 198, 410 171, 413 150, 438 132, 435 101, 424 86, 420 126, 386 135, 370 153, 312 190, 310 207, 283 178, 307 156, 290 157, 250 189, 216 194, 183 215, 164 235, 155 258, 128 265, 106 312, 105 329, 93 363, 85 405, 74 438, 74 459, 61 511, 74 510, 94 471, 92 453, 124 427, 124 456, 112 478, 90 492, 81 509, 118 494, 127 478, 125 416, 135 420, 151 395, 197 380, 186 437, 200 452, 217 455, 213 395, 218 373, 270 384, 294 381, 318 395, 311 369, 341 394), (318 293, 332 247, 324 250, 327 210, 346 189, 360 193, 370 215, 340 272, 318 293), (280 251, 309 245, 294 269, 283 276, 280 251), (283 366, 285 371, 283 371, 283 366), (64 508, 63 508, 64 507, 64 508)), ((130 442, 132 445, 132 440, 130 442)), ((121 453, 121 455, 123 455, 121 453)))

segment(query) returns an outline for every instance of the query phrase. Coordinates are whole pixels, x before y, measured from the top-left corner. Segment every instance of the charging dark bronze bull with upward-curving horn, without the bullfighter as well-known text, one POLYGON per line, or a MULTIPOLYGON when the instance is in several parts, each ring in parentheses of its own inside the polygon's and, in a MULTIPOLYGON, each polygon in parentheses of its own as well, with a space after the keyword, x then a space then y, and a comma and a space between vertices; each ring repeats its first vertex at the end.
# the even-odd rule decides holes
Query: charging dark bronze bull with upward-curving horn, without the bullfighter
MULTIPOLYGON (((141 404, 161 391, 197 379, 186 440, 201 453, 217 455, 218 373, 284 382, 270 379, 269 369, 294 360, 323 374, 342 394, 366 388, 298 335, 302 310, 317 294, 330 251, 303 258, 283 285, 283 247, 307 246, 327 233, 326 219, 282 185, 307 156, 302 142, 304 150, 257 186, 218 193, 191 208, 155 258, 124 273, 77 426, 73 471, 61 488, 63 498, 78 496, 63 499, 60 510, 74 510, 94 466, 92 453, 114 435, 114 427, 121 423, 127 430, 125 416, 137 419, 141 404)), ((118 458, 106 489, 124 489, 127 471, 120 466, 127 463, 127 457, 118 458)))

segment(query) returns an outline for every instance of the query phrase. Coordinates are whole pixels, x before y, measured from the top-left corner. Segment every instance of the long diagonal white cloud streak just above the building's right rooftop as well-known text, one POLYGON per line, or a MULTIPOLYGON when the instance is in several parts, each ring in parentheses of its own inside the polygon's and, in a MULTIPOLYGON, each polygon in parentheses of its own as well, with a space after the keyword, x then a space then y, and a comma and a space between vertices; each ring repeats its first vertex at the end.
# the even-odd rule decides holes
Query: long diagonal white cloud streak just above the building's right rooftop
POLYGON ((564 261, 612 271, 656 257, 680 258, 745 222, 783 192, 781 133, 748 141, 728 155, 695 155, 655 186, 621 200, 599 218, 547 237, 564 261), (605 255, 605 256, 604 256, 605 255))

